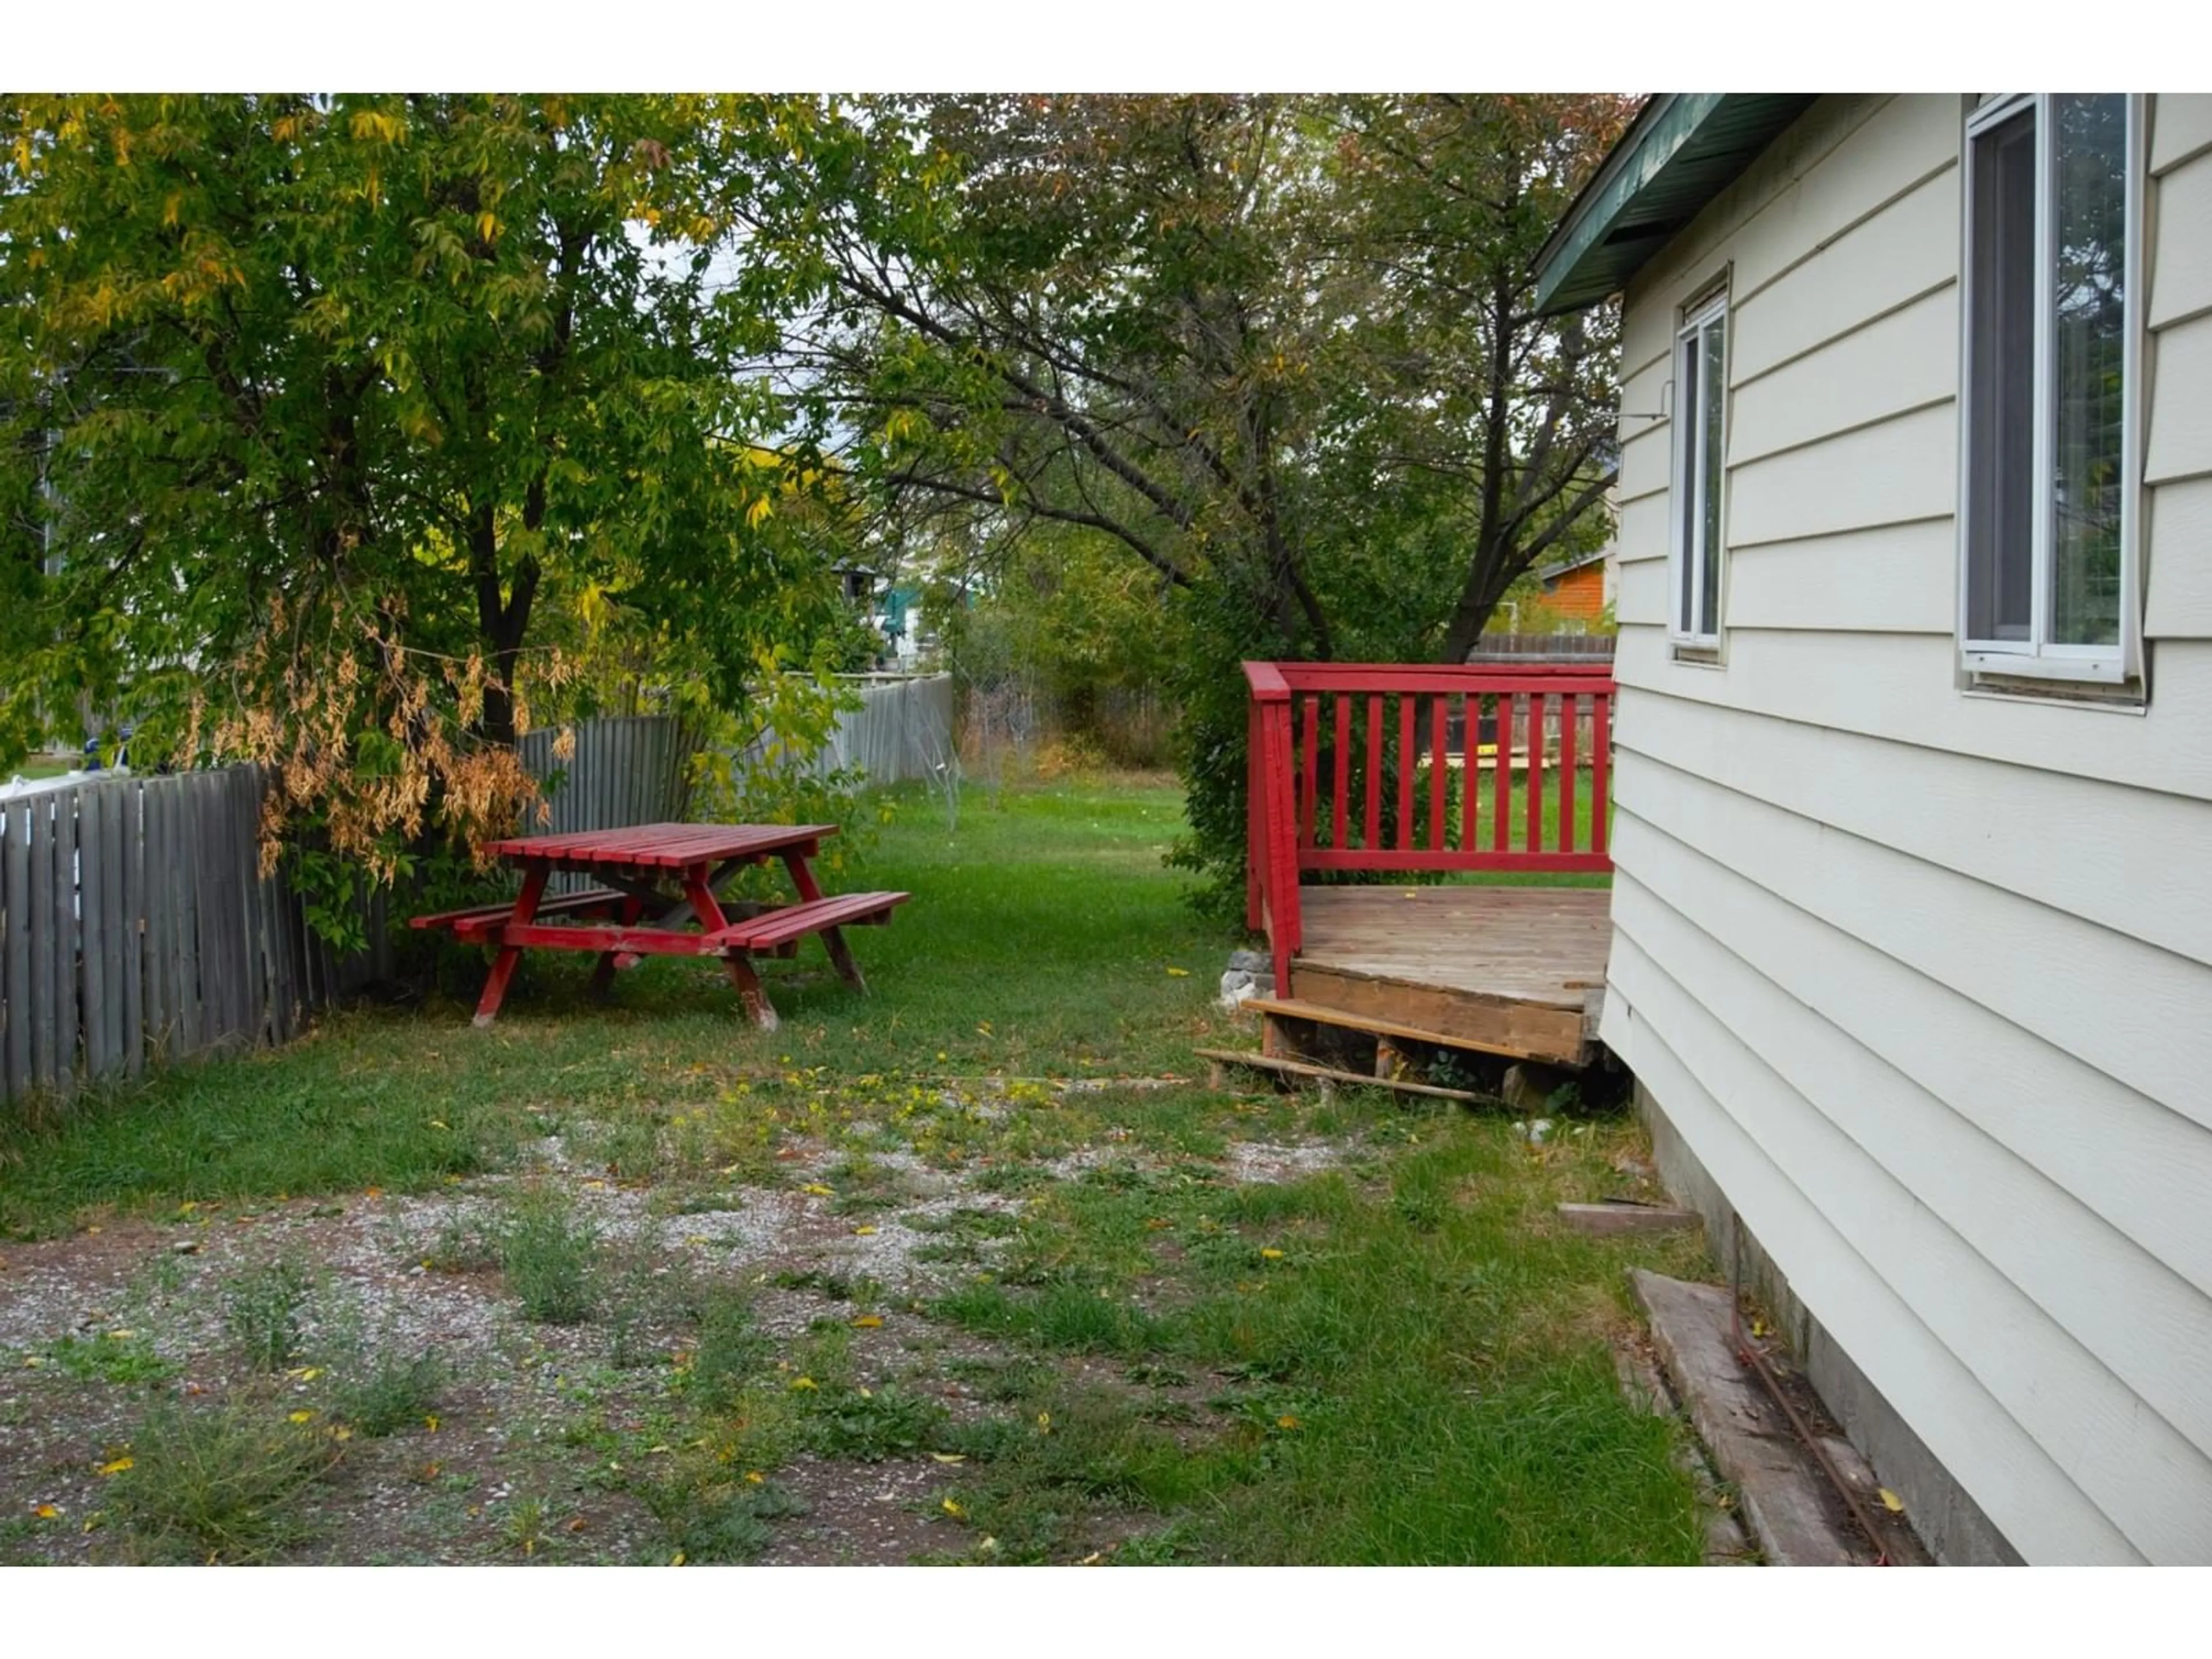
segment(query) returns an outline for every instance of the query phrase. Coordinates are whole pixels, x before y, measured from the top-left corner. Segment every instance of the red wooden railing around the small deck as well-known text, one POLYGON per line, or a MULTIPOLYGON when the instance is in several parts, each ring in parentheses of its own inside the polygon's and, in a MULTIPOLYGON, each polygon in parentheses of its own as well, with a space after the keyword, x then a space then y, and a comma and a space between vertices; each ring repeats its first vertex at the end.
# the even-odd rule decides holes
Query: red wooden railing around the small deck
POLYGON ((1276 995, 1290 995, 1303 945, 1307 869, 1613 869, 1604 668, 1243 668, 1252 686, 1245 920, 1267 931, 1276 995))

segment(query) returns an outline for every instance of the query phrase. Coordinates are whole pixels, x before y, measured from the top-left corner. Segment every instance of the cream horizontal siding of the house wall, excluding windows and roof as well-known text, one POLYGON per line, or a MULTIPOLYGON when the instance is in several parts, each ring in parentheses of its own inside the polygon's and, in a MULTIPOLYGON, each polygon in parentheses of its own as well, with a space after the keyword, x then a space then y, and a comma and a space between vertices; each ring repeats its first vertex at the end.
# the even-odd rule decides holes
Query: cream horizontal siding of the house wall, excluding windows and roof
POLYGON ((2212 1562, 2212 100, 2159 104, 2143 712, 1958 688, 1962 97, 1820 100, 1624 316, 1730 270, 1719 668, 1621 422, 1601 1035, 2039 1562, 2212 1562))

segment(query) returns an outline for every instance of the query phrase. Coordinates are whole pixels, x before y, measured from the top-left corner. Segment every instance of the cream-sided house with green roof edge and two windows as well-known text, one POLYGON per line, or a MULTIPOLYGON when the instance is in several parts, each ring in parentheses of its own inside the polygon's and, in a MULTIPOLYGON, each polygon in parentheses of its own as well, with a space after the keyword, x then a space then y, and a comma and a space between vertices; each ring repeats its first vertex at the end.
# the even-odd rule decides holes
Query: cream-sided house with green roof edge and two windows
POLYGON ((2212 95, 1659 97, 1610 294, 1661 1166, 1940 1557, 2212 1562, 2212 95))

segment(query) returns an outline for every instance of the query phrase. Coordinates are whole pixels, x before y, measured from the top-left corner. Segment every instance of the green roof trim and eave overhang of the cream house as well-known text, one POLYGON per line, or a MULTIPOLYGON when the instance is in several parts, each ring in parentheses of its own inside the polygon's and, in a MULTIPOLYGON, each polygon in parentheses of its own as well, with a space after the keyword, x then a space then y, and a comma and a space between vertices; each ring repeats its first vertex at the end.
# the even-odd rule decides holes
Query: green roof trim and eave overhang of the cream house
POLYGON ((1537 254, 1535 307, 1575 312, 1619 294, 1807 104, 1812 93, 1652 97, 1537 254))

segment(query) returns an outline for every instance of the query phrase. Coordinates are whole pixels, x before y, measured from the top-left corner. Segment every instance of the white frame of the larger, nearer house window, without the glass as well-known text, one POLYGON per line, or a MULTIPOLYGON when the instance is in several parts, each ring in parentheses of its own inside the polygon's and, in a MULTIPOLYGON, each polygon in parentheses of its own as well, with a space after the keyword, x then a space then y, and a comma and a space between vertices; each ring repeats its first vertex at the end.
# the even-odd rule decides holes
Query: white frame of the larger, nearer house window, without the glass
POLYGON ((2055 679, 2126 686, 2143 677, 2143 270, 2148 100, 2128 95, 2126 237, 2121 261, 2121 473, 2119 473, 2119 641, 2110 646, 2051 639, 2053 562, 2057 555, 2057 168, 2051 93, 2008 93, 1966 113, 1960 150, 1960 352, 1958 352, 1958 653, 1969 690, 1984 681, 2055 679), (2028 542, 2028 637, 1969 635, 1973 582, 1973 226, 1975 153, 1993 128, 2035 115, 2035 361, 2033 361, 2033 533, 2028 542))

